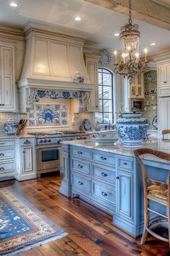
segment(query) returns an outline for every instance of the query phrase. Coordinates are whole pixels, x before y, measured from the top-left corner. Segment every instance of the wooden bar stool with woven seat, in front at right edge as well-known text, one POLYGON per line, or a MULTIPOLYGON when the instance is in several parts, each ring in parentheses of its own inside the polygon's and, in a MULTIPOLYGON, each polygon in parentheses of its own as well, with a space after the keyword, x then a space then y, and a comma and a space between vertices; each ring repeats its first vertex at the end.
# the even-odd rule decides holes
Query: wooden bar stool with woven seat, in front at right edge
POLYGON ((143 174, 144 229, 143 229, 142 239, 140 240, 140 244, 144 244, 146 242, 146 237, 148 233, 150 233, 152 236, 155 236, 157 239, 161 239, 162 241, 169 242, 169 246, 170 246, 170 175, 168 174, 167 184, 155 179, 149 179, 147 168, 143 163, 143 158, 140 157, 140 155, 152 154, 152 155, 156 155, 158 158, 170 161, 170 154, 163 153, 158 150, 152 150, 149 148, 140 148, 138 150, 134 150, 133 153, 135 154, 135 157, 138 159, 140 163, 140 168, 143 174), (158 210, 151 209, 149 205, 150 200, 166 206, 168 216, 162 213, 159 213, 158 210), (157 216, 160 216, 161 218, 159 217, 154 221, 150 221, 150 213, 155 213, 157 216), (153 226, 156 225, 156 223, 160 223, 164 221, 168 222, 169 239, 166 239, 164 236, 156 234, 156 232, 154 232, 152 229, 153 226))

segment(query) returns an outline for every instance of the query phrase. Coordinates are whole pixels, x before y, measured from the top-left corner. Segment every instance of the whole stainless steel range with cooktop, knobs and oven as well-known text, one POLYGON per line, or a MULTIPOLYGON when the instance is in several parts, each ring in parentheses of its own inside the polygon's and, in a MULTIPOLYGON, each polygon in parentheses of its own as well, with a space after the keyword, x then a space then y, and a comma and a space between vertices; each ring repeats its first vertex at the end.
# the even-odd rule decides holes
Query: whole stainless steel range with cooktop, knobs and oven
POLYGON ((37 176, 63 169, 63 152, 61 142, 66 140, 86 140, 89 135, 84 132, 49 132, 30 133, 36 137, 37 176))

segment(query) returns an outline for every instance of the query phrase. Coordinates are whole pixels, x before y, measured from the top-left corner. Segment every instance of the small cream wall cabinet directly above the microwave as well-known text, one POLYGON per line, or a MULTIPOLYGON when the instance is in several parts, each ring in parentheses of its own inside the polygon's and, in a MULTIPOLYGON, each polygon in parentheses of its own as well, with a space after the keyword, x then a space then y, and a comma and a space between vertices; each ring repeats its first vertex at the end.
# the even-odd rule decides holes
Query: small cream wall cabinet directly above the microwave
POLYGON ((130 98, 143 98, 143 74, 133 77, 133 83, 130 85, 130 98))

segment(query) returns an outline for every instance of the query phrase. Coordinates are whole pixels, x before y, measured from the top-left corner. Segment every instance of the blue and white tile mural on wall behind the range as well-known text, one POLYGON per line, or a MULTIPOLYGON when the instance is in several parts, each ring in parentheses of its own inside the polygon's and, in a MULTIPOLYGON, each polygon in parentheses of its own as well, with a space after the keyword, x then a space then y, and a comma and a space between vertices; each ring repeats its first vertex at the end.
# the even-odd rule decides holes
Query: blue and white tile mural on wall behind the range
POLYGON ((68 126, 68 104, 37 103, 28 117, 30 127, 68 126))

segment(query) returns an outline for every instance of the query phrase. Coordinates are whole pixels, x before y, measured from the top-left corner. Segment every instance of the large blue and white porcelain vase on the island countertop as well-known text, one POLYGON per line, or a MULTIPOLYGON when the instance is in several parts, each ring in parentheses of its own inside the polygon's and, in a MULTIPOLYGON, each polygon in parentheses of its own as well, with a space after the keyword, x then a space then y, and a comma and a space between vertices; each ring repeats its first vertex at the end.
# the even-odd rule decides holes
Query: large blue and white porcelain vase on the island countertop
POLYGON ((116 122, 118 137, 126 146, 139 146, 146 137, 148 120, 141 114, 123 113, 122 118, 116 122))

